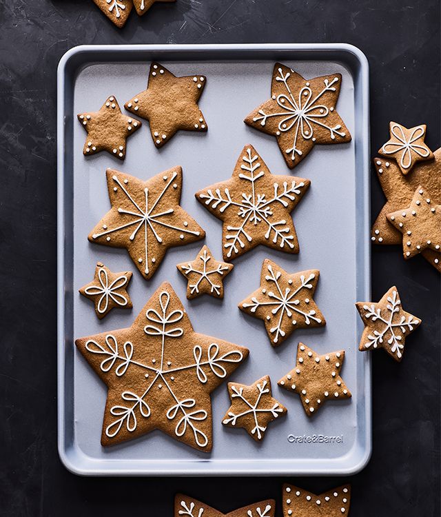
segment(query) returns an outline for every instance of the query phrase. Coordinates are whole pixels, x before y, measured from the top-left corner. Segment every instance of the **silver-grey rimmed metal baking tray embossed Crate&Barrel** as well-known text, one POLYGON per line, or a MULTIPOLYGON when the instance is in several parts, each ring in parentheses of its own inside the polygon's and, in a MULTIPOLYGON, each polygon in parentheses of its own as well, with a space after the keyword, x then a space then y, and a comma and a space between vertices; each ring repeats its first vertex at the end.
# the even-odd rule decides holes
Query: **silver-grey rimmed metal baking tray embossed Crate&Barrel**
POLYGON ((345 44, 275 45, 96 45, 67 52, 58 71, 58 409, 59 454, 64 465, 85 475, 324 475, 353 474, 371 453, 371 367, 358 352, 362 324, 353 303, 370 299, 368 64, 345 44), (123 163, 100 153, 82 154, 85 131, 76 113, 99 109, 110 95, 122 106, 143 90, 151 61, 176 75, 203 74, 207 87, 200 107, 207 134, 181 132, 160 151, 148 124, 132 135, 123 163), (316 146, 291 173, 275 139, 248 128, 243 118, 269 96, 276 61, 311 78, 340 72, 336 106, 353 140, 316 146), (207 232, 205 243, 221 256, 221 224, 194 199, 194 192, 229 178, 243 146, 254 145, 273 174, 311 179, 311 188, 293 213, 300 254, 258 247, 234 261, 222 302, 211 297, 187 301, 186 282, 176 263, 194 259, 202 243, 170 250, 151 281, 136 271, 125 250, 88 243, 87 235, 109 209, 105 170, 116 168, 143 179, 174 165, 183 167, 181 205, 207 232), (326 327, 297 330, 273 349, 263 322, 249 318, 237 303, 259 284, 269 257, 290 272, 319 269, 316 302, 326 327), (92 278, 96 261, 114 271, 132 270, 134 309, 112 311, 98 321, 78 289, 92 278), (271 376, 273 396, 288 408, 270 425, 263 443, 221 419, 229 407, 226 386, 212 395, 214 447, 211 454, 153 432, 116 447, 100 445, 106 388, 74 347, 74 338, 130 326, 158 285, 170 281, 196 332, 249 347, 247 362, 229 380, 252 383, 271 376), (329 402, 307 418, 300 399, 276 382, 294 367, 302 341, 320 354, 345 349, 342 376, 351 401, 329 402))

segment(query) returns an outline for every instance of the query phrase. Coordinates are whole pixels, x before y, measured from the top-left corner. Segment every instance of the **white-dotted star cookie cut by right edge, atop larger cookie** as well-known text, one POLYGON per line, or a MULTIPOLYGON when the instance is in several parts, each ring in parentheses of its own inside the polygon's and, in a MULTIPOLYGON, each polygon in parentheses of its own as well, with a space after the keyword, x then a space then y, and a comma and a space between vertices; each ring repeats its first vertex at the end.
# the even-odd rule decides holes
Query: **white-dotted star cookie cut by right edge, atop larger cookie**
POLYGON ((441 248, 441 205, 432 203, 429 192, 418 187, 409 207, 387 214, 387 219, 402 233, 404 259, 431 248, 441 248))

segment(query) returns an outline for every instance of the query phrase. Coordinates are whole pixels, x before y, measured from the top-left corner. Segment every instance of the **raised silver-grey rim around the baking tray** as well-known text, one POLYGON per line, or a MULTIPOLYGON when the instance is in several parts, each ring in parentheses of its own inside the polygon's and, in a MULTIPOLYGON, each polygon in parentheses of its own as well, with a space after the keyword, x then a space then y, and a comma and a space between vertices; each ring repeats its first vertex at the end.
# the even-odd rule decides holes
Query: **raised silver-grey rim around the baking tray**
MULTIPOLYGON (((358 459, 356 463, 353 463, 350 467, 333 467, 332 464, 336 465, 340 458, 337 460, 332 458, 322 462, 326 466, 321 468, 314 468, 314 465, 309 469, 290 469, 289 460, 280 460, 278 468, 268 467, 257 469, 249 468, 223 468, 214 467, 207 469, 204 465, 207 465, 207 461, 201 460, 150 460, 150 467, 145 469, 121 469, 117 466, 112 465, 106 467, 105 470, 100 468, 100 464, 103 464, 103 460, 88 458, 88 467, 80 467, 75 463, 70 454, 68 453, 65 436, 65 358, 64 358, 64 344, 65 344, 65 252, 64 252, 64 237, 65 237, 65 225, 64 225, 64 173, 65 173, 65 79, 70 66, 71 61, 81 57, 81 54, 96 54, 101 53, 102 57, 113 53, 121 54, 137 54, 136 59, 133 61, 140 61, 143 54, 147 52, 158 52, 164 54, 181 54, 185 52, 219 52, 219 53, 231 53, 240 54, 244 52, 258 53, 258 52, 296 52, 298 54, 309 54, 309 59, 314 59, 314 54, 320 52, 337 53, 342 52, 348 54, 351 59, 355 59, 360 68, 360 90, 361 105, 363 113, 362 125, 364 128, 362 131, 367 134, 362 140, 362 145, 358 151, 362 159, 362 190, 364 192, 363 198, 365 200, 364 206, 364 230, 365 234, 369 236, 370 231, 370 181, 369 181, 369 152, 370 152, 370 133, 369 133, 369 63, 367 57, 363 52, 354 45, 349 43, 227 43, 227 44, 136 44, 136 45, 77 45, 63 54, 59 61, 57 68, 57 425, 58 425, 58 452, 61 463, 65 466, 68 471, 72 474, 80 476, 267 476, 267 475, 287 475, 287 476, 347 476, 353 475, 360 472, 365 468, 371 458, 372 454, 372 403, 371 403, 371 354, 364 354, 365 356, 365 420, 366 420, 366 436, 365 436, 365 448, 364 454, 358 459), (194 468, 192 466, 189 469, 189 465, 195 465, 199 463, 200 467, 194 468), (161 467, 163 465, 163 467, 161 467)), ((331 56, 329 56, 331 57, 331 56)), ((219 57, 218 59, 225 59, 219 57)), ((236 59, 238 59, 236 57, 236 59)), ((239 58, 240 59, 240 58, 239 58)), ((298 57, 298 59, 305 59, 304 57, 298 57)), ((315 56, 315 59, 318 59, 315 56)), ((325 59, 318 59, 325 60, 325 59)), ((105 61, 105 59, 102 59, 105 61)), ((354 88, 355 90, 356 88, 354 88)), ((364 290, 367 295, 371 294, 371 247, 369 243, 364 245, 362 253, 363 260, 365 263, 365 278, 364 278, 364 290)), ((369 298, 370 299, 370 298, 369 298)), ((353 449, 351 449, 353 450, 353 449)), ((219 463, 229 463, 229 460, 216 459, 216 465, 219 463)), ((253 460, 244 460, 243 463, 252 463, 253 460)), ((263 460, 263 465, 268 460, 263 460)), ((117 462, 115 461, 116 465, 117 462)), ((314 463, 314 460, 311 462, 314 463)))

